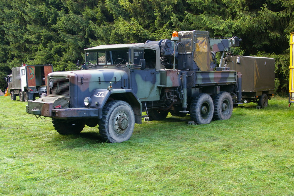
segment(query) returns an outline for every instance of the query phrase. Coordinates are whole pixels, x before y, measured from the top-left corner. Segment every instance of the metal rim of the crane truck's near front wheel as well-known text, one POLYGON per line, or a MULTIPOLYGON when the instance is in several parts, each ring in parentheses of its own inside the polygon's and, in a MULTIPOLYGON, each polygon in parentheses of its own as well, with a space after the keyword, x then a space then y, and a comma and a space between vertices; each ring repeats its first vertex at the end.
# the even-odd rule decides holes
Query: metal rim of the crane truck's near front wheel
POLYGON ((122 135, 128 128, 128 115, 124 111, 118 112, 113 120, 113 130, 117 135, 122 135))

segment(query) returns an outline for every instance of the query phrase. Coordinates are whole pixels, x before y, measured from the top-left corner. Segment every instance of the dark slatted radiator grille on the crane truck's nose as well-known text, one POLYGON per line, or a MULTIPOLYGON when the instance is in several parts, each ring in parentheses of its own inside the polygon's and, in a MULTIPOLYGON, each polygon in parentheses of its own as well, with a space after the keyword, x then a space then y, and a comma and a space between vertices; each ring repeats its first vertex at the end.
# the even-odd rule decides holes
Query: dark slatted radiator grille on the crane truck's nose
POLYGON ((51 95, 63 95, 69 97, 70 95, 70 81, 68 78, 52 78, 54 85, 49 90, 51 95))

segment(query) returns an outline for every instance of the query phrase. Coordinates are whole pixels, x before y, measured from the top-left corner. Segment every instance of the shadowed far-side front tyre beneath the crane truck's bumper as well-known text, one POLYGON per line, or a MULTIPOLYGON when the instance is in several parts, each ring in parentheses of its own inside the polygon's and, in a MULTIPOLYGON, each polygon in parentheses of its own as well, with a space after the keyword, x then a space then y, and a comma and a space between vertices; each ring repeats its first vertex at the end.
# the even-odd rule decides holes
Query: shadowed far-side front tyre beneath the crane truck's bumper
POLYGON ((65 121, 62 119, 52 118, 54 129, 61 135, 77 135, 85 127, 85 122, 82 119, 65 121))

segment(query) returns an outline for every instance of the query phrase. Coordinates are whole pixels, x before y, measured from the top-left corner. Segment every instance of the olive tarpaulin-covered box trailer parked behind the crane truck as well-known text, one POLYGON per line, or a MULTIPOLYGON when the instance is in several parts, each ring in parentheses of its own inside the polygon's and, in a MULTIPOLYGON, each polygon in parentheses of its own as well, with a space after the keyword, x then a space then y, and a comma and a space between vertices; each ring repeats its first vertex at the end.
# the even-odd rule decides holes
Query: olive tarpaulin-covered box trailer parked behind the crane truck
MULTIPOLYGON (((228 55, 223 67, 231 67, 242 74, 242 103, 254 102, 260 108, 268 106, 275 88, 275 60, 266 57, 228 55)), ((238 104, 234 104, 238 106, 238 104)))

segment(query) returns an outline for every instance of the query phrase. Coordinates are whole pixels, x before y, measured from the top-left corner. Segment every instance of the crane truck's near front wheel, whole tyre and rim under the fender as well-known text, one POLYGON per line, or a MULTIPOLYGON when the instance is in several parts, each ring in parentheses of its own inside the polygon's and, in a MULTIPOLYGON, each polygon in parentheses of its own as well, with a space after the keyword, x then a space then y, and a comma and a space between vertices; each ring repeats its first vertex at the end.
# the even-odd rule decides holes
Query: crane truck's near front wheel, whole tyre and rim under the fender
POLYGON ((99 133, 110 143, 120 143, 130 139, 135 126, 135 115, 125 101, 114 100, 103 107, 103 117, 99 119, 99 133))

